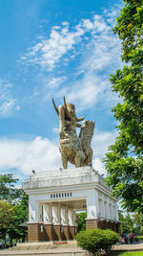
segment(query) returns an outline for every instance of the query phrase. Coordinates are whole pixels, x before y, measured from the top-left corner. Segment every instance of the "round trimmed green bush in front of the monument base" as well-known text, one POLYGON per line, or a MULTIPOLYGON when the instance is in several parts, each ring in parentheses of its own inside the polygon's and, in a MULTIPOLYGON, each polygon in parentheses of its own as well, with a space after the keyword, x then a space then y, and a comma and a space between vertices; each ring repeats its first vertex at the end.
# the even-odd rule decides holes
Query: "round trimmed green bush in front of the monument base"
POLYGON ((116 244, 119 240, 119 236, 110 229, 101 230, 95 228, 80 231, 76 235, 76 240, 79 246, 92 252, 93 255, 96 255, 101 250, 105 250, 106 252, 111 250, 112 244, 116 244))

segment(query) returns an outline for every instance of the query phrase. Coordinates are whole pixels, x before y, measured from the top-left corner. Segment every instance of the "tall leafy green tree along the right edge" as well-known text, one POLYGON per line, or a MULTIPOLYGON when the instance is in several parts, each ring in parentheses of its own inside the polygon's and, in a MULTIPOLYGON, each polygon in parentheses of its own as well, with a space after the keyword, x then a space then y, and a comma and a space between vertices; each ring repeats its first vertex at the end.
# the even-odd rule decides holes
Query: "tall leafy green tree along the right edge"
POLYGON ((124 0, 113 29, 122 41, 122 59, 128 65, 111 75, 112 91, 121 102, 112 108, 118 136, 104 159, 107 183, 127 210, 143 213, 143 5, 124 0))

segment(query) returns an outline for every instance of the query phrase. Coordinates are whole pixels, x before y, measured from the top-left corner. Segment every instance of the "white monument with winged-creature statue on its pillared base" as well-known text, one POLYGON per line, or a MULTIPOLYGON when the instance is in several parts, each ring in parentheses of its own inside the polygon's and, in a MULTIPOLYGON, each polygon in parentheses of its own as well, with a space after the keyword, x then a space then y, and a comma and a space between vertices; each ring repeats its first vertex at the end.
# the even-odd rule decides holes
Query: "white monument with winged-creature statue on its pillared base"
POLYGON ((60 123, 63 169, 36 172, 23 183, 29 195, 29 242, 69 241, 77 232, 76 211, 87 210, 87 228, 112 228, 118 232, 117 201, 104 178, 92 169, 94 122, 84 121, 79 136, 74 105, 54 108, 60 123), (67 169, 68 161, 75 168, 67 169))

